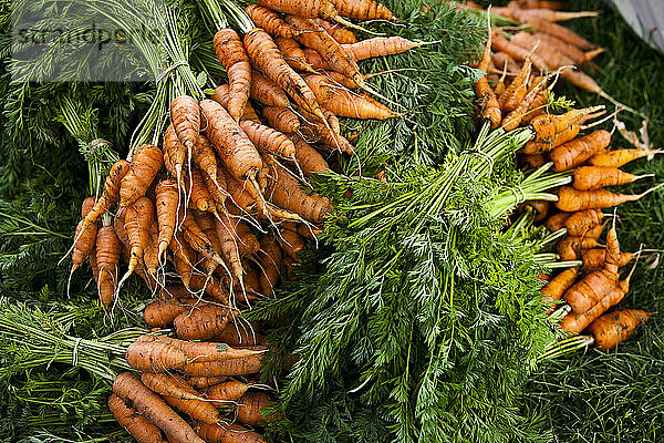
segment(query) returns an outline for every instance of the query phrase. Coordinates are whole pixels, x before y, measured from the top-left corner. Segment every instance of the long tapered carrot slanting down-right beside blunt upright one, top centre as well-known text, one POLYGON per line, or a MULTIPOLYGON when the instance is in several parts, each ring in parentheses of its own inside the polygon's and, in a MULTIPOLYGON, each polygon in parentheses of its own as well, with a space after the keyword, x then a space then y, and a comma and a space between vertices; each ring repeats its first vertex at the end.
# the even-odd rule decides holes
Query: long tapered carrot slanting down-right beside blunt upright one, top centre
MULTIPOLYGON (((281 3, 281 0, 273 0, 281 3)), ((261 2, 261 4, 264 4, 261 2)), ((278 8, 272 8, 277 9, 278 8)), ((289 94, 298 105, 312 113, 321 121, 323 114, 315 101, 313 92, 304 80, 292 70, 277 48, 272 38, 262 29, 255 28, 245 34, 245 47, 253 65, 262 71, 270 80, 277 83, 289 94)))

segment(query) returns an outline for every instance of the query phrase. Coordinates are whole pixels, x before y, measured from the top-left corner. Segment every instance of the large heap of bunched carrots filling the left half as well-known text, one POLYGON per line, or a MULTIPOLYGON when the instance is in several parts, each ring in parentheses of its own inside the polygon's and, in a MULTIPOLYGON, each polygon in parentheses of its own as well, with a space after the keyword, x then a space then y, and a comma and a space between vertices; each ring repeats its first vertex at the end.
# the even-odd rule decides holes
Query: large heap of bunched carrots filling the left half
POLYGON ((90 260, 111 313, 138 275, 155 296, 145 321, 176 336, 129 346, 127 363, 141 375, 123 373, 113 385, 108 406, 139 442, 262 441, 235 424, 261 426, 258 410, 269 402, 248 379, 267 343, 242 309, 273 295, 282 266, 333 213, 307 179, 331 171, 332 153, 354 153, 339 117, 400 116, 366 93, 374 91, 357 61, 422 44, 357 41, 341 25, 356 27, 349 19, 396 20, 372 0, 258 3, 246 8, 255 27, 242 37, 215 34, 228 84, 210 99, 175 97, 160 146, 115 163, 103 193, 82 205, 71 272, 90 260))

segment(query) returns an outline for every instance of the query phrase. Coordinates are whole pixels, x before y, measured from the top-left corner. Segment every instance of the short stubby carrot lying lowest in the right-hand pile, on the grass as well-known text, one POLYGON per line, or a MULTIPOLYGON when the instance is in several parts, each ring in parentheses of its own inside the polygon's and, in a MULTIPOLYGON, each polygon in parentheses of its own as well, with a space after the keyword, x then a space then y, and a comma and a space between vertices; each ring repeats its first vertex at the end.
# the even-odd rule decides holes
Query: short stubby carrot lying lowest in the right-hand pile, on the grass
POLYGON ((606 313, 588 327, 601 350, 613 349, 636 332, 641 322, 646 322, 649 315, 637 309, 626 309, 606 313))

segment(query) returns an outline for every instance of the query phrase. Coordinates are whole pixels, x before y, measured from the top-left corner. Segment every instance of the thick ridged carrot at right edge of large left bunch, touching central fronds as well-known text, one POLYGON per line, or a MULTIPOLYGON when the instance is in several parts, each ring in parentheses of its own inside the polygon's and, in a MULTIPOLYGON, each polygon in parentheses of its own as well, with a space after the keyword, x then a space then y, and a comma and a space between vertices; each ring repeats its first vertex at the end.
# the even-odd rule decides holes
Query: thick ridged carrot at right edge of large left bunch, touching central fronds
POLYGON ((308 195, 283 166, 273 161, 268 164, 271 174, 267 196, 272 203, 313 223, 321 223, 325 215, 332 213, 333 207, 328 198, 318 194, 308 195))

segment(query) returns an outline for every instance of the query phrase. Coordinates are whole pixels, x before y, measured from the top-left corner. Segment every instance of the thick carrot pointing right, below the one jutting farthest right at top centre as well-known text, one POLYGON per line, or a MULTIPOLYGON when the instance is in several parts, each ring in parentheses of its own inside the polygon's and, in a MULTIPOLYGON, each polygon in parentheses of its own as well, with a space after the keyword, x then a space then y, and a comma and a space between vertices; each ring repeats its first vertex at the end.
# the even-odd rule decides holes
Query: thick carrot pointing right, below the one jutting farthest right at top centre
POLYGON ((318 102, 335 115, 362 120, 386 120, 398 116, 397 113, 369 95, 344 91, 322 75, 307 75, 304 80, 315 94, 318 102))

